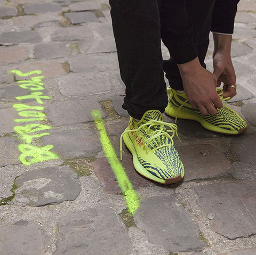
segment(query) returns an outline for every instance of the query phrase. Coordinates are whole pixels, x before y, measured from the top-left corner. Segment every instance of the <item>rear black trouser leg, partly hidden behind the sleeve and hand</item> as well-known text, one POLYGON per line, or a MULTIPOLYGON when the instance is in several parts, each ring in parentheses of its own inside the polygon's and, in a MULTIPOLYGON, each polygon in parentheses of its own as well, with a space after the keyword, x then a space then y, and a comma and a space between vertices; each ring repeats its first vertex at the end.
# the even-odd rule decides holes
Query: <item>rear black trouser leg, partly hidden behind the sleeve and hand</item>
MULTIPOLYGON (((206 68, 204 60, 209 46, 209 34, 211 29, 214 3, 215 0, 187 1, 189 19, 194 28, 194 43, 198 52, 199 61, 204 68, 206 68)), ((165 4, 170 4, 170 1, 162 0, 161 13, 164 12, 165 4)), ((162 22, 164 21, 162 20, 162 22)), ((164 38, 163 35, 162 37, 164 38)), ((165 43, 164 40, 163 43, 165 43)), ((169 51, 171 52, 171 49, 169 49, 169 51)), ((172 57, 169 60, 163 61, 163 69, 166 73, 166 78, 169 80, 170 86, 174 89, 182 91, 184 88, 180 76, 180 71, 178 65, 172 61, 172 57)))

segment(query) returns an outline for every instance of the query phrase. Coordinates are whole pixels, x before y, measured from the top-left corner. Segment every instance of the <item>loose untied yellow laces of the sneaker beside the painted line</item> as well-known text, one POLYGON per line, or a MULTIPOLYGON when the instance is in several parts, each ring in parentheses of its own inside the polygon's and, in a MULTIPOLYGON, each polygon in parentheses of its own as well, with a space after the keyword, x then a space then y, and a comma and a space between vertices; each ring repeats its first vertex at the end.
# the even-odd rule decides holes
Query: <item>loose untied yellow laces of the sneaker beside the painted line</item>
MULTIPOLYGON (((156 151, 158 149, 161 149, 162 147, 170 146, 170 144, 163 144, 160 146, 156 146, 154 149, 150 149, 149 148, 150 142, 152 142, 155 138, 157 138, 159 136, 165 136, 166 138, 169 138, 171 141, 171 144, 173 145, 173 137, 176 135, 178 137, 179 141, 181 142, 180 137, 178 135, 177 125, 171 124, 171 123, 166 123, 164 121, 159 121, 159 120, 149 120, 147 123, 142 124, 137 129, 129 129, 129 130, 125 130, 123 132, 123 134, 120 137, 120 158, 121 158, 121 160, 122 160, 122 149, 123 149, 123 147, 122 147, 123 146, 123 136, 129 132, 140 131, 143 127, 148 127, 148 129, 151 130, 150 137, 147 138, 145 141, 143 141, 143 149, 145 149, 147 153, 149 152, 149 150, 156 151), (151 127, 154 127, 154 126, 160 126, 160 127, 156 130, 150 129, 151 127), (170 130, 166 129, 165 126, 169 127, 170 130), (170 135, 169 133, 172 133, 172 135, 170 135)), ((148 133, 146 133, 146 134, 149 135, 148 133)), ((138 135, 138 137, 142 138, 141 135, 138 135)))

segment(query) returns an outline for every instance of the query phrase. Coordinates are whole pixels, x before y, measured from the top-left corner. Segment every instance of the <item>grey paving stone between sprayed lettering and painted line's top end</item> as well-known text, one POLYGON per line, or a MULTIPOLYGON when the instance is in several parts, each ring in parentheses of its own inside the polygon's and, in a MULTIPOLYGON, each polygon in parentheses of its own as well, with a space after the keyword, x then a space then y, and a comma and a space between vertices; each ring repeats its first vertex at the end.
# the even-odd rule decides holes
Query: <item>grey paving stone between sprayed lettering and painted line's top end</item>
POLYGON ((55 102, 46 109, 46 113, 54 126, 65 126, 93 121, 91 116, 93 110, 100 110, 102 118, 106 117, 100 103, 91 99, 55 102))

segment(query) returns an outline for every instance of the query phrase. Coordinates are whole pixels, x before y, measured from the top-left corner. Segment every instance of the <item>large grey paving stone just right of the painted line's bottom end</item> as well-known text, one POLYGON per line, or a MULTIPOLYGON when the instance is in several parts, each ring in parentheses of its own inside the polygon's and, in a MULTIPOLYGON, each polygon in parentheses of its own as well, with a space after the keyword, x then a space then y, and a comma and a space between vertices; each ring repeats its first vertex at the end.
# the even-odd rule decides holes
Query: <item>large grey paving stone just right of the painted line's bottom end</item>
POLYGON ((135 212, 136 225, 145 231, 151 243, 172 252, 201 250, 198 228, 174 196, 143 199, 135 212))

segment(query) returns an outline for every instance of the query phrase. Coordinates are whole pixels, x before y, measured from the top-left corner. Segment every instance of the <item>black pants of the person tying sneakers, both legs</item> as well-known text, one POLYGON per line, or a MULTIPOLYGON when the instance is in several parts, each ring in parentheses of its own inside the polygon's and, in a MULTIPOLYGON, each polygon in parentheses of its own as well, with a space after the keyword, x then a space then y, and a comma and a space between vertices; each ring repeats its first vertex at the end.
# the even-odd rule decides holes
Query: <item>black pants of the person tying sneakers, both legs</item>
MULTIPOLYGON (((174 89, 183 90, 177 64, 163 61, 161 34, 170 10, 170 0, 110 0, 111 18, 117 47, 121 78, 126 86, 123 108, 140 119, 147 110, 164 112, 167 106, 164 72, 174 89)), ((194 43, 203 67, 215 0, 189 0, 187 11, 193 24, 194 43)), ((166 25, 166 24, 165 24, 166 25)), ((171 49, 169 48, 170 55, 171 49)))

